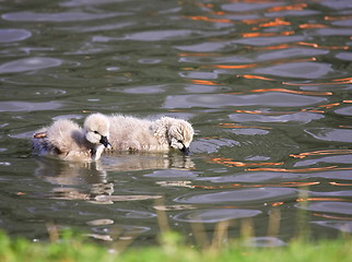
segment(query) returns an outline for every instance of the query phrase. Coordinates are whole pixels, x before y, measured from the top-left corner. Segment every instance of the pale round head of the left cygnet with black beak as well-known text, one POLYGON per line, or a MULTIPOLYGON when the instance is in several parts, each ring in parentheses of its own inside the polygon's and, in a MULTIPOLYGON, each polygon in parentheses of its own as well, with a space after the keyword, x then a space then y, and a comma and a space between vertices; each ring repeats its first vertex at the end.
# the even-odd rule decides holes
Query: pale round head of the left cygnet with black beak
POLYGON ((102 114, 92 114, 84 121, 85 139, 92 144, 103 144, 110 147, 108 142, 110 123, 106 116, 102 114))

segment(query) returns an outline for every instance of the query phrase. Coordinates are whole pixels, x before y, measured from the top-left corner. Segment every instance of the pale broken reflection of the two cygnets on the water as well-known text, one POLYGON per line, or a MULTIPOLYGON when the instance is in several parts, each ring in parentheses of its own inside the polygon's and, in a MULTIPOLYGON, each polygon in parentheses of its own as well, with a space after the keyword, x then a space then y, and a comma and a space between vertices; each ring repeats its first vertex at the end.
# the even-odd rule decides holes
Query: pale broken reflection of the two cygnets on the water
POLYGON ((189 178, 189 174, 190 177, 196 176, 188 171, 195 168, 193 162, 189 156, 179 154, 167 156, 165 154, 122 153, 115 154, 114 157, 104 156, 95 163, 63 163, 58 159, 37 158, 37 164, 35 175, 55 186, 48 195, 49 198, 86 200, 106 204, 161 198, 161 195, 146 194, 115 195, 114 193, 118 192, 115 192, 114 183, 109 181, 108 172, 110 171, 159 169, 144 176, 164 179, 189 178))

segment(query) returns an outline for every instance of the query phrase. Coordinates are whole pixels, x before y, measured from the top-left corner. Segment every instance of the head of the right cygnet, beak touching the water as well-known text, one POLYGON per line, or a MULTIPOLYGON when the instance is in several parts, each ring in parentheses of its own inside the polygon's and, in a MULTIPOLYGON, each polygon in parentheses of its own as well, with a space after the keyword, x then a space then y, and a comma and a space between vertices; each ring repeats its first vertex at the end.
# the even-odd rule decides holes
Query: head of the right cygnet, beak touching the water
POLYGON ((189 145, 193 139, 192 126, 181 119, 172 119, 167 131, 169 145, 189 155, 189 145))

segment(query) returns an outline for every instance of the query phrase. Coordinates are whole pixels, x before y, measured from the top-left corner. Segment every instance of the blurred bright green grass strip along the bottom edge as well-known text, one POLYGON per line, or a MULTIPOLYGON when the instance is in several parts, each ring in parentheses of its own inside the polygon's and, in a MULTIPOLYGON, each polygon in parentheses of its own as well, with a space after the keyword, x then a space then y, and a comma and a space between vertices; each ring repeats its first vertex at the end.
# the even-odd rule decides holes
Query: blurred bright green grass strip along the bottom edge
POLYGON ((66 237, 56 242, 44 243, 31 242, 25 239, 10 239, 4 234, 0 234, 0 261, 343 262, 352 261, 352 240, 340 238, 315 243, 294 240, 288 246, 279 248, 248 248, 239 242, 233 242, 225 248, 195 249, 185 245, 179 236, 167 234, 161 238, 157 247, 129 248, 124 252, 116 252, 77 237, 66 237))

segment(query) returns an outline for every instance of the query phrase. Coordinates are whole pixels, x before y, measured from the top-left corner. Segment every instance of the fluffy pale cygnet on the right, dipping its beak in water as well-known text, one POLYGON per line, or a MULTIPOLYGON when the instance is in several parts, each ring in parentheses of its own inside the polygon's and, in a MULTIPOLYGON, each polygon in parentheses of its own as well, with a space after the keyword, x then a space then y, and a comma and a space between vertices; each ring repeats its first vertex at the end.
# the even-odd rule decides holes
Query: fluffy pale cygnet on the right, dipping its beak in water
POLYGON ((183 119, 163 117, 150 121, 120 115, 108 118, 115 151, 167 152, 173 147, 189 154, 193 129, 183 119))

